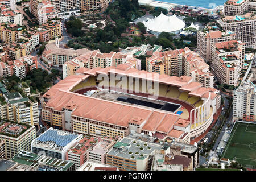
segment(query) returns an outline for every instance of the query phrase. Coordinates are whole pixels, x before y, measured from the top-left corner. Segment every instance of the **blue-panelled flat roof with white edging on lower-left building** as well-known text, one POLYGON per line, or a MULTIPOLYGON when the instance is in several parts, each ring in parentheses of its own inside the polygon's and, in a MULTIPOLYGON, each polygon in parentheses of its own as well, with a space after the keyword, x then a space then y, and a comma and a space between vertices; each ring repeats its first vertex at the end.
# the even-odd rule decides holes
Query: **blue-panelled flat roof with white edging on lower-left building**
POLYGON ((67 146, 77 137, 79 137, 78 134, 50 128, 36 138, 32 142, 32 145, 53 147, 55 150, 62 150, 63 147, 67 146))

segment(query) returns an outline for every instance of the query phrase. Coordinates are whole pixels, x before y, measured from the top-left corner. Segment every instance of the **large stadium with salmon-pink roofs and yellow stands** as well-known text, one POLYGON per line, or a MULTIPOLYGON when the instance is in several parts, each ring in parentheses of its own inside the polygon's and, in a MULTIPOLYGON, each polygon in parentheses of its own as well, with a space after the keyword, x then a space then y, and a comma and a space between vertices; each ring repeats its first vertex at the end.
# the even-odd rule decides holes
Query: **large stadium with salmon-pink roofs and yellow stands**
POLYGON ((42 97, 42 119, 79 134, 126 137, 131 132, 189 143, 220 107, 217 89, 188 76, 139 71, 121 64, 79 68, 42 97))

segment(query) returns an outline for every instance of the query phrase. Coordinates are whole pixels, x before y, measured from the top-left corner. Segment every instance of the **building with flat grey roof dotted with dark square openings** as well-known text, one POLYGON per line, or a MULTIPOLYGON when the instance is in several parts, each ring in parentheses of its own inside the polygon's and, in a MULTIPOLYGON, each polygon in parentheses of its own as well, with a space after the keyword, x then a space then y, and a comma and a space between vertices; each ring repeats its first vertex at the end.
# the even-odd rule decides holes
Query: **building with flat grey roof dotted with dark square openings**
POLYGON ((106 164, 122 171, 147 171, 151 168, 155 151, 159 150, 167 154, 170 147, 125 137, 107 153, 106 164))

